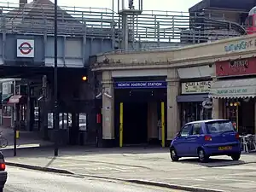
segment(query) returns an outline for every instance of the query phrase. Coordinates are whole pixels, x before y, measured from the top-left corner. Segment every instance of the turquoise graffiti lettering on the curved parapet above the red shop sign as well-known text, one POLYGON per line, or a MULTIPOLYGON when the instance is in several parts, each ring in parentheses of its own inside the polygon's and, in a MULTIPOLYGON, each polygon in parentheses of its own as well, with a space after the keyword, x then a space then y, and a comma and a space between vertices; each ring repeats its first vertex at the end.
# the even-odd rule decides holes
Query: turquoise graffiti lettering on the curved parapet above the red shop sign
POLYGON ((242 40, 233 44, 227 44, 224 46, 225 52, 235 52, 246 49, 252 49, 256 46, 256 39, 242 40))

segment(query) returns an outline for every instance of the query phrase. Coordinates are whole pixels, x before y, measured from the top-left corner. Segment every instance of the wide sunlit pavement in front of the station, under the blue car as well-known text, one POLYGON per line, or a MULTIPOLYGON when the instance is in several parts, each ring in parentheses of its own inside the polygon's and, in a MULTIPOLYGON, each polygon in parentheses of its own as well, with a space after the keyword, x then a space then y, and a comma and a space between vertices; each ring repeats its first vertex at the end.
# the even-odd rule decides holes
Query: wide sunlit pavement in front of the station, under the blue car
POLYGON ((172 162, 168 148, 52 148, 22 150, 6 155, 9 166, 84 177, 151 184, 189 191, 253 191, 256 189, 256 154, 241 160, 218 156, 207 164, 189 158, 172 162))

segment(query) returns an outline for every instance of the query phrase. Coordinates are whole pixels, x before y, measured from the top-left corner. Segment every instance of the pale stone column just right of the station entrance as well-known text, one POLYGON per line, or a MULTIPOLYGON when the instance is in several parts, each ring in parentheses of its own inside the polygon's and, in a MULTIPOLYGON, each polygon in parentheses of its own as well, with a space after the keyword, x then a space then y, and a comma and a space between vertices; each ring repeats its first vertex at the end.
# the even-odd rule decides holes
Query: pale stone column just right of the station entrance
POLYGON ((167 76, 167 140, 172 140, 180 130, 180 115, 176 101, 179 95, 179 79, 176 69, 169 69, 167 76))

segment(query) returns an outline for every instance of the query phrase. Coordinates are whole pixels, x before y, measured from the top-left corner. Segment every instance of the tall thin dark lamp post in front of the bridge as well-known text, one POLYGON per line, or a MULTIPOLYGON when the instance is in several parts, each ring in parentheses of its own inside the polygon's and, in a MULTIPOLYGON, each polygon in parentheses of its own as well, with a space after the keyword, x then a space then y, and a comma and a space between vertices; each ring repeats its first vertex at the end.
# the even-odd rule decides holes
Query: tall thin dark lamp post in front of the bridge
POLYGON ((59 131, 59 113, 58 113, 58 0, 55 0, 55 68, 54 68, 54 99, 55 99, 55 110, 54 110, 54 139, 55 139, 55 156, 59 154, 58 146, 58 131, 59 131))

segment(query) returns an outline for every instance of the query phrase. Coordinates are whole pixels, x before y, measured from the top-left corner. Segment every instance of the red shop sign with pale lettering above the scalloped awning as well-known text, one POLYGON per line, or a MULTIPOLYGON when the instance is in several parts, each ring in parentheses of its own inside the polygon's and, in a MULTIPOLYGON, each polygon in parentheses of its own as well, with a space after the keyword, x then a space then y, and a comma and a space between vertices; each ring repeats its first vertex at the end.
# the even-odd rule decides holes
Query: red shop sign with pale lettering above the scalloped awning
POLYGON ((217 77, 256 74, 256 58, 234 61, 217 61, 217 77))

